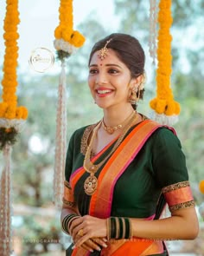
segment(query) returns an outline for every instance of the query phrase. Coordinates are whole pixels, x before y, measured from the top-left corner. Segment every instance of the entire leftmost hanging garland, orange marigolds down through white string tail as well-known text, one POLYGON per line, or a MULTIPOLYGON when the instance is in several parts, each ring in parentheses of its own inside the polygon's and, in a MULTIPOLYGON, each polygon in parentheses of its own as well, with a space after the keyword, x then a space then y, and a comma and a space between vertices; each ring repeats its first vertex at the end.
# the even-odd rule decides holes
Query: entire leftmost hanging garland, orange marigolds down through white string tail
POLYGON ((16 142, 16 135, 21 131, 28 117, 25 107, 17 106, 17 25, 20 23, 18 0, 6 1, 4 19, 5 54, 3 61, 3 94, 0 102, 0 149, 3 150, 3 171, 0 181, 0 252, 2 256, 11 253, 11 146, 16 142))

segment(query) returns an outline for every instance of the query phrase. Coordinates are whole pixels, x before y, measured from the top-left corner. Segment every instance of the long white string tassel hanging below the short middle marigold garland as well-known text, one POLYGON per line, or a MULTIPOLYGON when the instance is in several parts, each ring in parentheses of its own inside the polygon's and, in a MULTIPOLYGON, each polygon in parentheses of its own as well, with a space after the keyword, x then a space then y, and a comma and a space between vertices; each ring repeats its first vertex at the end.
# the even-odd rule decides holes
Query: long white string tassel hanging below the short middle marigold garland
POLYGON ((65 62, 61 62, 55 135, 54 205, 61 207, 67 151, 67 97, 65 62))

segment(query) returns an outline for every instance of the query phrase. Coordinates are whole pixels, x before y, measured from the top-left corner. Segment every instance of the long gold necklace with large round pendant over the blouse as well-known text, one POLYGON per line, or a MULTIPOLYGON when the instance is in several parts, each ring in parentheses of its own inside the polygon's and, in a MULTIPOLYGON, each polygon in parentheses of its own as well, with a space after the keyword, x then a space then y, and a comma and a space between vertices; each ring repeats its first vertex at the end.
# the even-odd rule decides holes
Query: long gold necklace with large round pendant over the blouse
POLYGON ((93 164, 90 158, 91 158, 91 152, 92 152, 92 142, 93 142, 93 139, 95 139, 95 137, 97 135, 98 129, 99 129, 102 121, 99 121, 97 126, 95 128, 93 128, 92 138, 87 147, 84 164, 83 164, 83 167, 86 170, 86 172, 90 174, 84 182, 84 189, 85 189, 86 194, 92 195, 95 193, 95 191, 98 187, 98 180, 94 174, 99 170, 99 167, 101 167, 105 163, 105 161, 112 155, 112 153, 116 150, 116 148, 118 148, 120 143, 123 141, 124 136, 126 135, 128 130, 131 128, 132 124, 137 120, 137 115, 135 115, 137 113, 135 111, 133 113, 134 113, 134 115, 131 115, 130 121, 124 126, 124 129, 123 129, 121 135, 119 135, 118 140, 116 141, 111 152, 109 154, 107 154, 105 159, 103 161, 100 161, 99 164, 93 164))

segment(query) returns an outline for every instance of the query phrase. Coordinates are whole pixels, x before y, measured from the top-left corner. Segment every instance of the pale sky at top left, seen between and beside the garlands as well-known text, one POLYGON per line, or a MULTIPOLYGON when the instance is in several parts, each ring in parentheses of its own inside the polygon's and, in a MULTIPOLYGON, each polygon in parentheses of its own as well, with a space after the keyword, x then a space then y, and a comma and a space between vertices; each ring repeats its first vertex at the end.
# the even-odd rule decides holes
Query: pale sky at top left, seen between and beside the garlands
MULTIPOLYGON (((6 0, 0 4, 0 61, 3 62, 3 19, 5 16, 6 0)), ((18 39, 19 57, 18 62, 22 69, 29 68, 31 52, 39 47, 45 47, 54 52, 54 29, 59 24, 60 0, 19 0, 21 23, 18 26, 20 38, 18 39)), ((105 26, 114 30, 117 23, 114 18, 113 0, 74 0, 73 1, 73 26, 77 26, 90 14, 97 16, 105 26)))

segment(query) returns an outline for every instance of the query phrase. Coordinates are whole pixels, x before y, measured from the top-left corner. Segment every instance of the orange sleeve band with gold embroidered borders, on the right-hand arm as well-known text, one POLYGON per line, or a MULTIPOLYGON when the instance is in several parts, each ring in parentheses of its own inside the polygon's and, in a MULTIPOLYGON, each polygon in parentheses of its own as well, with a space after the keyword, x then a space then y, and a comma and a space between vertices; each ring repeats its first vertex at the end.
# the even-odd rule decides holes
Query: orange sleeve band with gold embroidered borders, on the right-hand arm
POLYGON ((182 181, 163 187, 162 192, 169 205, 170 212, 174 212, 182 208, 194 207, 194 198, 189 181, 182 181))

